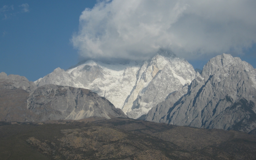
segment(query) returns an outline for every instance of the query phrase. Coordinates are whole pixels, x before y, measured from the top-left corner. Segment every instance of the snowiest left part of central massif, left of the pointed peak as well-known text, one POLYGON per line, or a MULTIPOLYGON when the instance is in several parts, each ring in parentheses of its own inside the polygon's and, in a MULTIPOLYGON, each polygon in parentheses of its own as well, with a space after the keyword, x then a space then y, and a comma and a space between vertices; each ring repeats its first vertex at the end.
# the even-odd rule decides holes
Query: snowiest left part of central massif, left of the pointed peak
POLYGON ((135 86, 136 73, 140 67, 141 64, 135 62, 113 65, 89 60, 66 71, 57 68, 42 78, 37 86, 57 84, 90 89, 107 98, 117 108, 122 108, 126 97, 135 86))

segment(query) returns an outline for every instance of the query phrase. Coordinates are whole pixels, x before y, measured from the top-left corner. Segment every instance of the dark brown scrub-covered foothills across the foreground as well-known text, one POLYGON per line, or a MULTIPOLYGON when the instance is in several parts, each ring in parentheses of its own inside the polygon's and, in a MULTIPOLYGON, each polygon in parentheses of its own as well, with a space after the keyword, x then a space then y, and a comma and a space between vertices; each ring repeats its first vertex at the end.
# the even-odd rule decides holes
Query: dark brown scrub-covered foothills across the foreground
POLYGON ((0 122, 0 157, 3 160, 256 158, 256 137, 243 132, 125 118, 88 119, 37 124, 0 122))

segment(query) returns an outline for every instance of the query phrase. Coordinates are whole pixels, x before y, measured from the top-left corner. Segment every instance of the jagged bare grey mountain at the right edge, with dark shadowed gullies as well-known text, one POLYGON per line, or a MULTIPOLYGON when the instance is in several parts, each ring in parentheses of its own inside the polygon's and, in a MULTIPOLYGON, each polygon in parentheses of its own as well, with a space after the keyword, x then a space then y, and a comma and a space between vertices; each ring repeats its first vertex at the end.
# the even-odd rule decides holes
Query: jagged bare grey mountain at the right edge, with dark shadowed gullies
POLYGON ((256 70, 229 54, 212 58, 189 86, 158 103, 147 121, 199 128, 256 128, 256 70))

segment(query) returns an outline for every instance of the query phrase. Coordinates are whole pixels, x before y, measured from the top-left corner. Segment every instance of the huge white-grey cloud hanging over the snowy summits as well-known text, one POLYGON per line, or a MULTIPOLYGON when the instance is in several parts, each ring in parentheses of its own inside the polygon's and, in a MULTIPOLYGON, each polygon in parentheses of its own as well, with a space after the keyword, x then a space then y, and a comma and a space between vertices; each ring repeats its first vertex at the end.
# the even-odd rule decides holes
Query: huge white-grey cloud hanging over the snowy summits
POLYGON ((256 42, 256 1, 105 0, 86 8, 71 39, 86 58, 147 59, 159 48, 198 59, 256 42))

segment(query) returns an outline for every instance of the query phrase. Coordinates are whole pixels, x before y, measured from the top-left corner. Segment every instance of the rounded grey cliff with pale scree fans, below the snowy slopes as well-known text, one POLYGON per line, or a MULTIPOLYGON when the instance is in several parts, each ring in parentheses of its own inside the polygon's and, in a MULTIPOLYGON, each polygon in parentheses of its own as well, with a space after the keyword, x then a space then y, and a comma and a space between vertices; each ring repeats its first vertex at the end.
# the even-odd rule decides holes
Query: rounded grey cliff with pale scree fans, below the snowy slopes
POLYGON ((91 116, 127 117, 121 109, 88 89, 57 86, 38 87, 27 99, 27 109, 38 115, 37 121, 72 119, 91 116))

